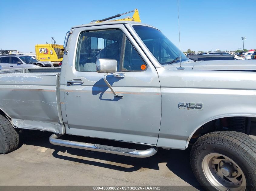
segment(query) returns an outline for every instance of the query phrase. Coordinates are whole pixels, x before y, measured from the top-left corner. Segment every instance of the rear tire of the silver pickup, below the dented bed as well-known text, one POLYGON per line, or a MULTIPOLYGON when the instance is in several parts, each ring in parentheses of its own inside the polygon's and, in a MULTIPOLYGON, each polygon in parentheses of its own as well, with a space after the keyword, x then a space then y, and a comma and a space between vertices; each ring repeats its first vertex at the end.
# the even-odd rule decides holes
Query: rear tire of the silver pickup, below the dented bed
POLYGON ((19 134, 5 116, 0 113, 0 154, 6 154, 18 148, 19 134))

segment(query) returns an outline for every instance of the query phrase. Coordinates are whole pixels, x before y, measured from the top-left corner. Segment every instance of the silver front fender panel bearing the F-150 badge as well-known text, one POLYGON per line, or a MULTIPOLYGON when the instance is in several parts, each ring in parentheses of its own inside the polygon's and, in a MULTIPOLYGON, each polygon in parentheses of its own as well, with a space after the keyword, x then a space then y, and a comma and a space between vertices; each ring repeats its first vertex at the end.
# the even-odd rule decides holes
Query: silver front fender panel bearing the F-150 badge
POLYGON ((256 116, 255 72, 157 70, 162 95, 158 147, 185 149, 193 133, 211 120, 256 116), (178 107, 180 102, 203 107, 178 107))

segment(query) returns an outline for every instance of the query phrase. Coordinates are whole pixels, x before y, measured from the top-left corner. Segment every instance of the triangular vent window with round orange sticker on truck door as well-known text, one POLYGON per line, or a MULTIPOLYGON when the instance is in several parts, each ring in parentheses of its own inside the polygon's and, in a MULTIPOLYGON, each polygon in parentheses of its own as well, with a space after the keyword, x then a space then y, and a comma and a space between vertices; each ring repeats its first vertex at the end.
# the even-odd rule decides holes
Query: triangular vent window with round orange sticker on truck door
POLYGON ((126 38, 122 71, 144 71, 147 66, 131 42, 126 38))

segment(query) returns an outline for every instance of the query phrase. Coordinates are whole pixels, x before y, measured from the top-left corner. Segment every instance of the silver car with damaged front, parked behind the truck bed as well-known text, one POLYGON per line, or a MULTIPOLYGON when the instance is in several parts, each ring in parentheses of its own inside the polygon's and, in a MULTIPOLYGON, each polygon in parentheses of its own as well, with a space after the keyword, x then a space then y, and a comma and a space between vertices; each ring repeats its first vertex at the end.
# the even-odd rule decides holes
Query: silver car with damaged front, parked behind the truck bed
POLYGON ((0 56, 0 65, 2 70, 11 68, 52 67, 51 62, 40 62, 32 56, 22 54, 0 56))

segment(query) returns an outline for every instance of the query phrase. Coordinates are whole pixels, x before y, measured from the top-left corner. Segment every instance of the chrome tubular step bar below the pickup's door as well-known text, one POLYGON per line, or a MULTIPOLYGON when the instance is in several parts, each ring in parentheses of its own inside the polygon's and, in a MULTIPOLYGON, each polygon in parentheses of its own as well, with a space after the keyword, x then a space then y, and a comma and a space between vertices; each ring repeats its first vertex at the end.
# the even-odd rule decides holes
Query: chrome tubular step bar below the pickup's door
POLYGON ((60 136, 62 135, 52 134, 49 138, 50 143, 52 143, 53 145, 60 145, 60 146, 71 147, 71 148, 80 148, 80 149, 85 149, 90 151, 98 151, 98 152, 105 152, 105 153, 111 153, 111 154, 119 154, 119 155, 137 157, 137 158, 151 157, 154 154, 156 154, 158 149, 157 147, 151 147, 146 150, 112 147, 107 145, 99 145, 99 144, 93 144, 93 143, 84 143, 84 142, 58 139, 60 136))

